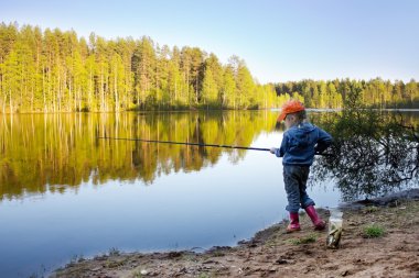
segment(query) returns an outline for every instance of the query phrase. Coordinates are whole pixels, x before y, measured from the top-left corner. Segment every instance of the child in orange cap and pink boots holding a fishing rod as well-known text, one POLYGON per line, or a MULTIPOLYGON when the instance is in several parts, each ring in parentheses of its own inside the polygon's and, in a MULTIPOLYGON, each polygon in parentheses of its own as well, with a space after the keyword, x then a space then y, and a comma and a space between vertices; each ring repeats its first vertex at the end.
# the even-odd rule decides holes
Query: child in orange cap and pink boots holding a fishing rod
POLYGON ((290 100, 283 104, 278 122, 284 120, 287 131, 280 148, 272 147, 270 153, 277 157, 283 157, 283 181, 286 185, 290 224, 287 232, 300 231, 300 208, 304 209, 314 224, 314 230, 324 230, 325 223, 314 209, 314 201, 310 199, 305 189, 310 166, 313 164, 314 154, 320 154, 332 143, 332 136, 305 121, 305 108, 297 100, 290 100))

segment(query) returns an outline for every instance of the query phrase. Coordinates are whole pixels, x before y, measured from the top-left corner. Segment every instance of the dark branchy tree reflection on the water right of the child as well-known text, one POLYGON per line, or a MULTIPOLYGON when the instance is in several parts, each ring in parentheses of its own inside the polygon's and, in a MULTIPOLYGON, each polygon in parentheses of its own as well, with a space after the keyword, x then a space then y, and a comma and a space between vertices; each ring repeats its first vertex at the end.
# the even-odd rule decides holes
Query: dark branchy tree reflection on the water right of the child
POLYGON ((313 167, 315 181, 334 178, 344 200, 374 197, 417 182, 418 118, 412 113, 345 109, 318 116, 334 137, 313 167))

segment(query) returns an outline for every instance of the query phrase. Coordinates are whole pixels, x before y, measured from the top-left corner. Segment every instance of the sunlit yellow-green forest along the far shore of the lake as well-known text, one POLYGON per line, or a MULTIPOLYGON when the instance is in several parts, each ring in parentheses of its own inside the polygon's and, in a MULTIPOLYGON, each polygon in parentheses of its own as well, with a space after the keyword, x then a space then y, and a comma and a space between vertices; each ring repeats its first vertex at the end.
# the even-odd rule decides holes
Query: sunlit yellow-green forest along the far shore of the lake
POLYGON ((75 31, 0 24, 0 113, 266 109, 289 98, 335 109, 354 91, 375 108, 419 103, 415 79, 260 85, 235 55, 223 64, 198 47, 170 48, 148 36, 86 40, 75 31))

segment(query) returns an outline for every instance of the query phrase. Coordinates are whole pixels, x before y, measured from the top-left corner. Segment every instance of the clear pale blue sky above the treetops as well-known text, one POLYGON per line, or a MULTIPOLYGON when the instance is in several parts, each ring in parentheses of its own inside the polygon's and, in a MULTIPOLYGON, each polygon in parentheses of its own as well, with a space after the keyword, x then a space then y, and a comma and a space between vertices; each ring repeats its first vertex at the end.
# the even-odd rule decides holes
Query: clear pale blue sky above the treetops
POLYGON ((417 0, 0 0, 0 21, 237 55, 261 84, 419 80, 417 0))

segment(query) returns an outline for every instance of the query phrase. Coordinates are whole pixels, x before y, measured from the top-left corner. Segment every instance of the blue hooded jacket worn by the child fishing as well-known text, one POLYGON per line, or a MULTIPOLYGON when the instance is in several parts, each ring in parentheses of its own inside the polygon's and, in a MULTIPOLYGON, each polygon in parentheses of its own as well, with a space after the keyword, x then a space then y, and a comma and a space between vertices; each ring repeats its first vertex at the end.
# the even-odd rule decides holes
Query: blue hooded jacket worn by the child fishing
POLYGON ((314 154, 332 144, 332 136, 311 123, 300 123, 283 133, 281 147, 276 156, 283 157, 283 165, 311 166, 314 154))

